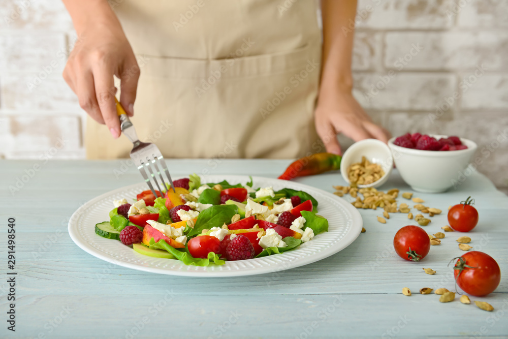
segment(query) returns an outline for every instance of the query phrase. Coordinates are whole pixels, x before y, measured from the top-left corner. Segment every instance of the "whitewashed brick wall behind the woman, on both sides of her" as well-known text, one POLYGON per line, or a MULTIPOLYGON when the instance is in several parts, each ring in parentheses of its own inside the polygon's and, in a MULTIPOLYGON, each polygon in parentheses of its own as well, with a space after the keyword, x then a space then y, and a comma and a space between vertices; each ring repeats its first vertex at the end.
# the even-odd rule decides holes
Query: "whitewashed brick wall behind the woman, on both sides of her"
MULTIPOLYGON (((508 128, 507 1, 359 0, 355 21, 354 93, 393 135, 457 134, 481 150, 508 128)), ((84 114, 61 78, 73 36, 59 0, 0 2, 0 157, 84 157, 84 114)), ((506 188, 507 165, 508 141, 479 169, 506 188)))

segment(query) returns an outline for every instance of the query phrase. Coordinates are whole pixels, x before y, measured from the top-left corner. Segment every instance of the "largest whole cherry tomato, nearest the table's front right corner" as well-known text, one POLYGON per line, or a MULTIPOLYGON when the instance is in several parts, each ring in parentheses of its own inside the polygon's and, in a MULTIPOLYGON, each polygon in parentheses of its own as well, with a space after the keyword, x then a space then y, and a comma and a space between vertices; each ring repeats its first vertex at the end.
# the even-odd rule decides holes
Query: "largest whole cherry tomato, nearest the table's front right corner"
POLYGON ((455 281, 466 293, 481 297, 493 292, 501 281, 501 270, 488 254, 473 251, 458 258, 455 281))

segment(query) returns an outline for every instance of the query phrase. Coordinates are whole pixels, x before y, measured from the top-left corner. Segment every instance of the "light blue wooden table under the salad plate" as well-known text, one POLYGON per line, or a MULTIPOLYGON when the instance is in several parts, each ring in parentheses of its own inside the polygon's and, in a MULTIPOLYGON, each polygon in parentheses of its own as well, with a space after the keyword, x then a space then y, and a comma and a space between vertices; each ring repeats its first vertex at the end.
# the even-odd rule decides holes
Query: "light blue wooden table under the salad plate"
MULTIPOLYGON (((502 336, 508 334, 508 197, 481 174, 473 174, 445 194, 416 194, 443 210, 426 226, 447 225, 449 205, 471 195, 480 223, 468 235, 473 250, 494 257, 503 274, 497 290, 484 298, 495 311, 458 301, 440 303, 423 287, 454 290, 448 262, 464 252, 458 232, 447 233, 420 263, 403 261, 392 240, 406 214, 360 210, 366 233, 345 250, 317 263, 245 278, 189 279, 131 270, 97 259, 67 233, 71 214, 100 194, 140 181, 125 162, 0 161, 2 329, 0 337, 336 337, 502 336), (31 172, 34 164, 40 169, 31 172), (123 165, 122 165, 123 164, 123 165), (23 177, 23 175, 25 175, 23 177), (30 174, 33 174, 30 177, 30 174), (22 186, 11 193, 9 186, 22 186), (23 182, 23 180, 27 182, 23 182), (8 219, 16 219, 16 266, 7 269, 8 219), (425 274, 422 267, 437 271, 425 274), (16 272, 16 332, 7 330, 7 272, 16 272), (413 295, 402 295, 408 287, 413 295)), ((276 177, 289 161, 171 160, 174 177, 189 173, 276 177)), ((298 181, 333 192, 344 184, 338 173, 298 181)), ((409 191, 394 171, 380 189, 409 191)), ((351 197, 347 197, 351 198, 351 197)), ((399 203, 403 199, 399 199, 399 203)), ((92 225, 90 225, 92 227, 92 225)))

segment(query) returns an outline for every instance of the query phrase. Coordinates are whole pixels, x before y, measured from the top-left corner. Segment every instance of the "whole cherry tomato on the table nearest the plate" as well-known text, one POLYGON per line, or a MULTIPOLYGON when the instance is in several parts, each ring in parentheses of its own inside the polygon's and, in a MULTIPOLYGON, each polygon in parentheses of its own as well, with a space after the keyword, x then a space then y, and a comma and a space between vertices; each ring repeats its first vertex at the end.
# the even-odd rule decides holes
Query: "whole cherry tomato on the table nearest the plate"
POLYGON ((421 227, 404 226, 395 233, 393 247, 399 257, 405 260, 419 261, 429 254, 429 235, 421 227))

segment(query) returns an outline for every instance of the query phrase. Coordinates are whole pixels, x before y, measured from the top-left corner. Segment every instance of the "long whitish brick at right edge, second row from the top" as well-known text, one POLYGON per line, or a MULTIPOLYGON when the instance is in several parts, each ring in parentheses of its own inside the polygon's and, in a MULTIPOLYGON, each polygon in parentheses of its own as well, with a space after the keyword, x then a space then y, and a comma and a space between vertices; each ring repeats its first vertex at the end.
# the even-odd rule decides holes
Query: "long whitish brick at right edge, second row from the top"
POLYGON ((506 69, 507 32, 389 32, 384 65, 397 70, 506 69))

